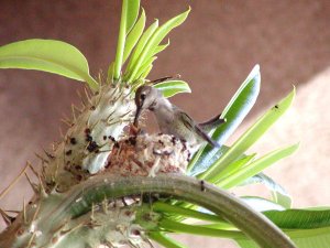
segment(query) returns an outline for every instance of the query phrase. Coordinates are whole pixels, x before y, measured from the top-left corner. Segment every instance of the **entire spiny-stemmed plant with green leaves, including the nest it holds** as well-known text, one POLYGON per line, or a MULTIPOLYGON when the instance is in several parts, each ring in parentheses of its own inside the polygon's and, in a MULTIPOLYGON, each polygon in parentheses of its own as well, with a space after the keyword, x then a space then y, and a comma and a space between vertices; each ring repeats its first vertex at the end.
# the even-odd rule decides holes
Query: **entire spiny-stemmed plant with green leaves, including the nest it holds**
MULTIPOLYGON (((72 107, 66 134, 45 152, 42 170, 28 163, 21 173, 35 174, 35 182, 28 177, 32 200, 14 217, 0 209, 8 224, 1 248, 153 247, 152 240, 186 247, 168 236, 179 233, 230 238, 246 248, 329 246, 330 208, 292 208, 286 191, 262 173, 298 144, 261 157, 246 153, 289 108, 295 89, 227 144, 257 98, 258 65, 222 111, 227 122, 209 131, 220 148, 204 145, 191 157, 186 141, 131 126, 136 88, 151 85, 147 76, 157 54, 169 45, 162 42, 189 11, 145 28, 140 1, 123 0, 116 58, 98 79, 90 76, 85 56, 65 42, 34 39, 0 47, 0 68, 38 69, 86 83, 82 106, 72 107), (272 197, 226 191, 252 183, 264 184, 272 197)), ((153 87, 165 97, 190 93, 182 79, 153 87)))

